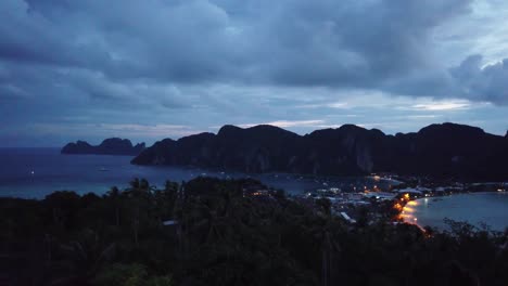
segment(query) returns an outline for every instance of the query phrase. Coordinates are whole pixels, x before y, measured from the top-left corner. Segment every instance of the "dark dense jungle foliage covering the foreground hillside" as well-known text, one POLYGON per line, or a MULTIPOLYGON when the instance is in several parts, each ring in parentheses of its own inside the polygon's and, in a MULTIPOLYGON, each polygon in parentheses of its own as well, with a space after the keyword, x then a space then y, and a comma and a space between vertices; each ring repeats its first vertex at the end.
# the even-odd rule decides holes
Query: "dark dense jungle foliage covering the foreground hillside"
POLYGON ((253 180, 0 199, 0 285, 508 285, 508 231, 347 224, 253 180))

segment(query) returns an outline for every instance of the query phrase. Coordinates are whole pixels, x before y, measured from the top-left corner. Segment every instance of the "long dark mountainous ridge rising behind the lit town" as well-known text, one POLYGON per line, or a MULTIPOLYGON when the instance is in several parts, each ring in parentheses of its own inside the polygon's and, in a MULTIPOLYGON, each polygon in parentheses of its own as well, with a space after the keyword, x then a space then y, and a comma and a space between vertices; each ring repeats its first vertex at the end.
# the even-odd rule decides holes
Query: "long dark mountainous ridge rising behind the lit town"
POLYGON ((384 134, 344 125, 299 135, 274 126, 224 126, 217 134, 165 139, 132 159, 136 165, 179 165, 243 172, 358 176, 372 172, 461 180, 508 180, 508 134, 457 123, 416 133, 384 134))

